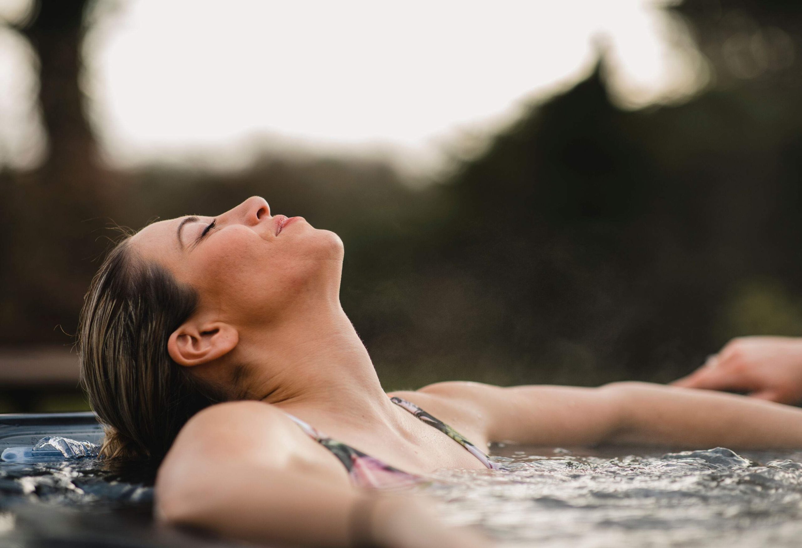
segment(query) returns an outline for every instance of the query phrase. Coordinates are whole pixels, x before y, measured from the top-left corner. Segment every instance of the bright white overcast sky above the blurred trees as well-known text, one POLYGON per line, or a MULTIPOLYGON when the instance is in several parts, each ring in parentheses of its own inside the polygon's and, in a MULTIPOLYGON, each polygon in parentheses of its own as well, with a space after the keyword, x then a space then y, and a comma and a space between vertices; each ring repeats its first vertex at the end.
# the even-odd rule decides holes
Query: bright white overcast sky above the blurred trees
MULTIPOLYGON (((600 37, 622 104, 693 91, 699 59, 661 3, 101 0, 83 87, 118 167, 235 167, 270 146, 380 152, 415 171, 586 75, 600 37)), ((0 33, 0 162, 18 167, 41 156, 30 64, 0 33)))

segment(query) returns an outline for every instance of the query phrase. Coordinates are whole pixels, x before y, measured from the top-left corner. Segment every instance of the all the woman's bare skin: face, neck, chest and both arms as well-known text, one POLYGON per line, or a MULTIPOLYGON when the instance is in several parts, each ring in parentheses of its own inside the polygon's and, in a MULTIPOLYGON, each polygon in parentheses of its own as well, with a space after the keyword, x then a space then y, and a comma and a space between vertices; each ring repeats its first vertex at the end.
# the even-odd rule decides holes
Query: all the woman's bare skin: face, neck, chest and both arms
MULTIPOLYGON (((339 302, 343 246, 336 234, 297 217, 276 235, 283 217, 260 197, 216 217, 187 218, 149 225, 132 238, 132 250, 200 294, 168 352, 233 401, 198 413, 176 438, 156 480, 160 518, 249 540, 345 546, 349 509, 363 492, 282 411, 410 473, 484 468, 383 391, 339 302), (176 234, 182 222, 183 245, 176 234)), ((455 381, 391 394, 483 449, 489 441, 802 447, 802 410, 691 388, 455 381)), ((388 502, 383 512, 387 520, 376 530, 382 546, 485 546, 464 533, 438 533, 407 502, 388 502)))

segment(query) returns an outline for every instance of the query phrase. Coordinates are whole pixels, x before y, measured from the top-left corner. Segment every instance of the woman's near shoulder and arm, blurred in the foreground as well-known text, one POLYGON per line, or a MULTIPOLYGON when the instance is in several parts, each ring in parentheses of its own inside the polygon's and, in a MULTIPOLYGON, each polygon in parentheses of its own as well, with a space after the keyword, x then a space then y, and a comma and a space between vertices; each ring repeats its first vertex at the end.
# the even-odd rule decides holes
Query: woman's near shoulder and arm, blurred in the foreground
POLYGON ((237 402, 193 417, 160 467, 156 518, 291 546, 352 546, 358 538, 397 548, 486 546, 441 526, 418 500, 354 489, 336 468, 342 465, 305 455, 305 434, 265 411, 265 404, 237 402))

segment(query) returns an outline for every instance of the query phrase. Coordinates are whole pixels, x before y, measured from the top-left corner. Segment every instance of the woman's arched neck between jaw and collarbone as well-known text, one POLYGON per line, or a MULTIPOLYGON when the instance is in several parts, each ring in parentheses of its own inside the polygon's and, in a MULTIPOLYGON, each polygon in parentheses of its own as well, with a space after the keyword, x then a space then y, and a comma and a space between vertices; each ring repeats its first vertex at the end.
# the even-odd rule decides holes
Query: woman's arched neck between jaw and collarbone
POLYGON ((339 302, 306 311, 294 307, 282 323, 263 326, 248 339, 239 357, 249 364, 249 398, 287 412, 336 412, 338 420, 355 425, 397 416, 339 302))

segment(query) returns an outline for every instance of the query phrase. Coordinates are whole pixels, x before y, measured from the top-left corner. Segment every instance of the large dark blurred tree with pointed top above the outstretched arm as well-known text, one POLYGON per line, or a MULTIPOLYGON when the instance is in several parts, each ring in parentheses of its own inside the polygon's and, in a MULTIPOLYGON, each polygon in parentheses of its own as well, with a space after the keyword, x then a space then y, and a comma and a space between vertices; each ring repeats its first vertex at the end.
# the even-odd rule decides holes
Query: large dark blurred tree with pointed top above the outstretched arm
POLYGON ((516 382, 670 380, 743 326, 802 335, 799 302, 777 297, 802 291, 800 71, 783 51, 686 104, 622 111, 601 63, 532 105, 445 185, 452 217, 403 293, 429 321, 397 326, 387 369, 417 344, 452 363, 427 380, 498 380, 499 363, 516 382))

